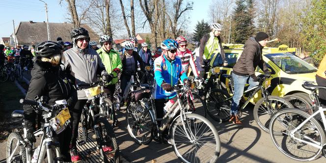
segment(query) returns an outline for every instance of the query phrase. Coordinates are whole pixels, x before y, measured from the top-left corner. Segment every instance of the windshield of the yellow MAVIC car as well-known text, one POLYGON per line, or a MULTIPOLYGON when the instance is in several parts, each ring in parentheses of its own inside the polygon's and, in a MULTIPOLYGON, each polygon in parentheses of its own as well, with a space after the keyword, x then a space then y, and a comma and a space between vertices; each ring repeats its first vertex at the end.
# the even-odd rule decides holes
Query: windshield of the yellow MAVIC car
POLYGON ((290 53, 266 54, 265 56, 288 74, 317 72, 314 66, 290 53))

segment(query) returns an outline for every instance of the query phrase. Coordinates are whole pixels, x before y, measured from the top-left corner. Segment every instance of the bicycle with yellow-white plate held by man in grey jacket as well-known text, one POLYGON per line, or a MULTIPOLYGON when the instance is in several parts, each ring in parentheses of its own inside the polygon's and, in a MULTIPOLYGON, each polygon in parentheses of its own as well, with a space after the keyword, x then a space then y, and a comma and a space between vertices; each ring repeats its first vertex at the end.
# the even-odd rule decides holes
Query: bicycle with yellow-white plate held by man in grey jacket
POLYGON ((101 159, 105 163, 119 163, 119 146, 116 142, 113 127, 109 124, 109 113, 114 110, 109 107, 109 99, 103 96, 104 82, 97 81, 93 83, 77 84, 78 90, 84 90, 87 97, 86 105, 81 111, 81 128, 79 128, 79 138, 82 139, 79 144, 83 145, 87 142, 88 130, 93 129, 97 149, 101 154, 101 159), (83 89, 83 87, 88 87, 83 89), (97 105, 97 99, 100 99, 101 104, 97 105), (99 113, 95 114, 96 108, 99 108, 99 113))

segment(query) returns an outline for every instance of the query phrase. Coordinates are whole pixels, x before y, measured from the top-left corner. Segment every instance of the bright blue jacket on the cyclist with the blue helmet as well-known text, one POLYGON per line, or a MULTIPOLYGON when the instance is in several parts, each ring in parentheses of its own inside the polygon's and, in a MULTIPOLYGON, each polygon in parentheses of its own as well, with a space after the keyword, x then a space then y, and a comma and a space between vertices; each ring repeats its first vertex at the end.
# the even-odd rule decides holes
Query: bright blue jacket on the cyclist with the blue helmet
POLYGON ((171 84, 172 86, 178 84, 179 78, 181 81, 184 81, 187 78, 186 73, 182 68, 181 59, 179 56, 176 56, 172 62, 168 61, 165 55, 154 60, 154 91, 153 97, 155 99, 171 99, 176 96, 176 92, 170 93, 163 90, 161 87, 163 81, 171 84))

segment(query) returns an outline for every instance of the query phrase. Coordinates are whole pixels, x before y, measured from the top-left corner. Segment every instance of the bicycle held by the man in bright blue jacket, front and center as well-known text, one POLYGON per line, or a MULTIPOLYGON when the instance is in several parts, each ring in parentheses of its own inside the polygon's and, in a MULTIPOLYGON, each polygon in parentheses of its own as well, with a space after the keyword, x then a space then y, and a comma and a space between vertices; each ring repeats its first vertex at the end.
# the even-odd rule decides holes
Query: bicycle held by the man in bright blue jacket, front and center
MULTIPOLYGON (((142 87, 137 92, 144 93, 142 91, 146 89, 152 87, 142 87)), ((173 150, 182 162, 215 163, 220 154, 220 140, 215 126, 205 117, 183 107, 180 94, 189 91, 189 87, 173 89, 177 92, 178 100, 163 118, 156 118, 154 98, 149 95, 143 95, 142 99, 128 106, 126 120, 129 135, 138 144, 148 144, 153 138, 160 141, 161 133, 169 128, 173 150), (161 126, 158 121, 161 121, 161 126)))

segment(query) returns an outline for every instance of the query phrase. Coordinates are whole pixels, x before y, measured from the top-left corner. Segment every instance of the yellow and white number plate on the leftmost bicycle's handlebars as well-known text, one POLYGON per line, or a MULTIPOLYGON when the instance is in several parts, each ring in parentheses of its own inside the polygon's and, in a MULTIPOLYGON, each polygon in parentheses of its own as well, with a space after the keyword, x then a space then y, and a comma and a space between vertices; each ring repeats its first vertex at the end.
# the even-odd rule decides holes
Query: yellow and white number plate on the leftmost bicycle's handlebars
POLYGON ((66 129, 70 123, 70 117, 69 109, 65 108, 62 109, 54 118, 50 119, 50 125, 56 134, 59 134, 66 129))

